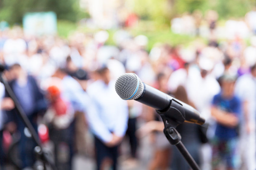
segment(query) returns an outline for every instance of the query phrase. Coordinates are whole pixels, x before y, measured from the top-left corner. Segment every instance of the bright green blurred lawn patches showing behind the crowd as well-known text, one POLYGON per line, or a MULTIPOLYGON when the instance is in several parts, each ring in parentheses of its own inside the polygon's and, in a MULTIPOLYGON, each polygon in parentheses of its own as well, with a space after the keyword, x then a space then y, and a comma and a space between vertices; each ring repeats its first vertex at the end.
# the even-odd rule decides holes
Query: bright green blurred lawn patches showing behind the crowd
MULTIPOLYGON (((77 26, 77 24, 65 21, 65 20, 59 20, 58 21, 58 33, 59 36, 65 38, 69 35, 70 32, 79 30, 81 32, 86 33, 95 33, 100 31, 100 29, 89 29, 87 27, 83 26, 77 26)), ((170 27, 168 26, 158 26, 157 23, 150 22, 150 21, 140 21, 139 25, 134 28, 126 29, 128 32, 130 32, 133 36, 138 36, 140 34, 145 35, 149 38, 148 42, 148 48, 149 51, 156 43, 168 43, 170 45, 188 45, 190 42, 194 41, 195 39, 198 39, 194 36, 188 36, 188 35, 179 35, 171 32, 170 27)), ((109 39, 107 40, 107 45, 115 45, 115 42, 113 40, 114 33, 117 31, 117 29, 110 29, 107 30, 109 33, 109 39)), ((202 39, 204 40, 204 39, 202 39)))

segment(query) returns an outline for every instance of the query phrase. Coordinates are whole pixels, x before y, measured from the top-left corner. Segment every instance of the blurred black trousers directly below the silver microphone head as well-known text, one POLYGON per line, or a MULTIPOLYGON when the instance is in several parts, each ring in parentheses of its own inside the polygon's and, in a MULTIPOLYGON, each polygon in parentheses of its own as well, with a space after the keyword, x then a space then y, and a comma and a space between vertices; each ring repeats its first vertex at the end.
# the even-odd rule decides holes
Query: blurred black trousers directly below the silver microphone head
POLYGON ((129 136, 131 155, 133 158, 136 158, 136 152, 137 152, 137 147, 138 147, 138 139, 135 135, 136 122, 137 122, 137 118, 129 118, 128 128, 126 131, 126 135, 129 136))

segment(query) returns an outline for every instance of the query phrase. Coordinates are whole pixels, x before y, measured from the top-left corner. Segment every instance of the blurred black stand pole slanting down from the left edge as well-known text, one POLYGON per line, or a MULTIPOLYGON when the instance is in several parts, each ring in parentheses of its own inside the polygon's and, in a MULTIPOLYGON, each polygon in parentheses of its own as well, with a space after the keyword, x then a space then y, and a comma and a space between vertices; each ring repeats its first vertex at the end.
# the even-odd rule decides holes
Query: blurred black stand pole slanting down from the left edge
MULTIPOLYGON (((28 130, 31 133, 32 138, 34 139, 34 141, 36 142, 37 146, 39 146, 41 148, 41 150, 43 151, 43 147, 42 147, 42 143, 37 135, 37 132, 35 131, 35 129, 33 128, 32 124, 30 123, 29 119, 27 118, 26 114, 24 113, 24 110, 22 109, 18 99, 16 98, 14 92, 12 91, 10 85, 8 84, 8 82, 6 82, 3 79, 3 71, 4 71, 4 67, 0 65, 0 82, 2 82, 5 86, 5 89, 7 91, 7 93, 9 94, 9 96, 11 97, 11 99, 13 100, 15 107, 18 111, 19 116, 21 117, 22 121, 24 122, 25 126, 28 128, 28 130)), ((44 162, 47 162, 51 168, 53 170, 57 170, 57 168, 55 167, 54 163, 48 159, 47 155, 45 152, 42 152, 42 159, 44 162)))

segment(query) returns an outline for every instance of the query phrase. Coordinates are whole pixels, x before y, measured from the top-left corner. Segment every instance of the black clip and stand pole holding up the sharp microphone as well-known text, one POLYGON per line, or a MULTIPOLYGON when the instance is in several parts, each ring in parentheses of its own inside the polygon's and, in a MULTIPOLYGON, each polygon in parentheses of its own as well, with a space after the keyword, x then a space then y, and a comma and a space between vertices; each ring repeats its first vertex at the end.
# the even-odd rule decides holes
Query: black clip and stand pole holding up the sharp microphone
POLYGON ((184 114, 182 114, 180 109, 182 109, 182 106, 175 100, 171 100, 171 105, 167 110, 156 110, 156 112, 161 116, 164 122, 164 134, 168 141, 178 148, 182 156, 193 170, 200 170, 193 157, 181 142, 181 135, 176 130, 176 127, 185 121, 184 114))

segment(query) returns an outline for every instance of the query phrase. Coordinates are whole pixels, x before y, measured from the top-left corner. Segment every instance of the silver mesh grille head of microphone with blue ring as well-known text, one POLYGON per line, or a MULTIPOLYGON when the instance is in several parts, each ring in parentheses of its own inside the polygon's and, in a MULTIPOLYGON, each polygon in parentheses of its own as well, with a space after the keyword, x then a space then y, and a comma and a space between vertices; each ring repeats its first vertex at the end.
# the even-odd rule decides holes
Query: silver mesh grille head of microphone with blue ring
POLYGON ((137 99, 143 91, 143 84, 139 77, 134 73, 126 73, 121 75, 115 84, 117 94, 124 100, 129 99, 134 92, 136 93, 129 100, 137 99), (139 81, 139 87, 136 91, 139 81))

